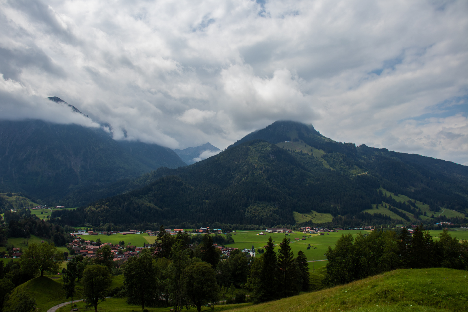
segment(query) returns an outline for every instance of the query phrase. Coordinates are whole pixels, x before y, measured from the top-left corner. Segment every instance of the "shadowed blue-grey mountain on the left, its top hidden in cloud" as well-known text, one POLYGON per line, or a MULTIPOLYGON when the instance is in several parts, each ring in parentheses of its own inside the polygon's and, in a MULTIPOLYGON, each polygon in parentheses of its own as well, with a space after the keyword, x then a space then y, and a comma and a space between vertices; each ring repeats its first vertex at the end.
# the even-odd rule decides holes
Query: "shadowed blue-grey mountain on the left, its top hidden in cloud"
POLYGON ((167 147, 116 141, 99 128, 0 121, 1 192, 22 192, 42 203, 81 205, 100 198, 97 189, 162 166, 185 163, 167 147))

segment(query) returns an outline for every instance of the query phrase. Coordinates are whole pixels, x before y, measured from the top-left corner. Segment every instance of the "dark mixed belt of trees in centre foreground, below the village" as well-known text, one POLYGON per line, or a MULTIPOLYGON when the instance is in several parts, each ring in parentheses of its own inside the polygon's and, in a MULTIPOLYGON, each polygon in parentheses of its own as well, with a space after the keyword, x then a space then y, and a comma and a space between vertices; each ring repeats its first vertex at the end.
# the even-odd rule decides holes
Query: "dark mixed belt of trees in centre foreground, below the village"
POLYGON ((106 264, 104 256, 96 258, 98 261, 77 256, 63 270, 64 288, 67 297, 72 297, 80 281, 86 302, 95 309, 99 300, 113 296, 126 297, 128 304, 141 305, 144 311, 151 306, 174 306, 176 312, 187 306, 200 312, 204 305, 245 302, 246 290, 252 291, 255 302, 308 290, 305 255, 299 252, 294 258, 287 238, 278 253, 274 249, 270 238, 262 255, 248 259, 234 250, 221 260, 211 235, 203 235, 197 244, 191 243, 188 233, 171 236, 161 227, 154 246, 121 265, 124 286, 109 289, 112 264, 106 264), (91 276, 98 280, 92 281, 91 276), (98 285, 102 287, 97 289, 98 285))

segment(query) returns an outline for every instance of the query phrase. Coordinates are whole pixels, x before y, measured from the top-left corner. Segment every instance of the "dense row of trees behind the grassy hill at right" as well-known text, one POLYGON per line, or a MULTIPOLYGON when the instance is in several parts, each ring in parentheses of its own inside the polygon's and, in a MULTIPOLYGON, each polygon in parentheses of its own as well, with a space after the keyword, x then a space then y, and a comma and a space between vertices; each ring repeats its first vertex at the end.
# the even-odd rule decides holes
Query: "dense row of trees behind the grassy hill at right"
POLYGON ((412 235, 406 228, 399 233, 380 229, 369 234, 342 235, 334 248, 325 253, 328 259, 324 283, 350 283, 397 268, 468 269, 468 241, 452 238, 445 229, 434 240, 419 225, 412 235))

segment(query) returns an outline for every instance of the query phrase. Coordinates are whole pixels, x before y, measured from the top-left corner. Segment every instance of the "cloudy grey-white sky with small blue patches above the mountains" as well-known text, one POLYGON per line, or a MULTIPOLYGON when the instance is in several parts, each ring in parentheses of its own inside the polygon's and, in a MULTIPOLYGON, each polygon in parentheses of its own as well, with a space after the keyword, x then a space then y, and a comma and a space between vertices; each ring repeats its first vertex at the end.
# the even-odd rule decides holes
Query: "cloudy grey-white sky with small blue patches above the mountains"
POLYGON ((468 165, 466 0, 0 0, 0 29, 0 118, 181 149, 296 120, 468 165))

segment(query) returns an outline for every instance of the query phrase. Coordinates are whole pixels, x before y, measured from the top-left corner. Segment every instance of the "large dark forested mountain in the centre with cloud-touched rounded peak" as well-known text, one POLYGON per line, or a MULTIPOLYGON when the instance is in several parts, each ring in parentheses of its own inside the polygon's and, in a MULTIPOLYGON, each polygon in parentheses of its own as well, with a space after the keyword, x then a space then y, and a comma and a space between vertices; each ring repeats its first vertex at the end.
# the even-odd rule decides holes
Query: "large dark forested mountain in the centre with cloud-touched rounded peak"
MULTIPOLYGON (((378 192, 380 187, 429 204, 432 210, 445 207, 466 213, 466 166, 336 142, 301 123, 273 125, 277 128, 266 133, 275 133, 268 139, 279 141, 276 144, 255 139, 191 166, 160 168, 151 177, 146 175, 154 181, 142 189, 74 212, 57 211, 53 217, 73 226, 214 222, 272 226, 294 224, 293 211, 314 210, 331 213, 335 223, 348 226, 395 222, 363 211, 388 200, 378 192)), ((397 208, 418 218, 412 205, 397 208)))

